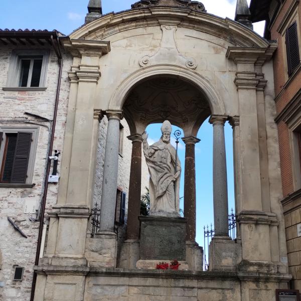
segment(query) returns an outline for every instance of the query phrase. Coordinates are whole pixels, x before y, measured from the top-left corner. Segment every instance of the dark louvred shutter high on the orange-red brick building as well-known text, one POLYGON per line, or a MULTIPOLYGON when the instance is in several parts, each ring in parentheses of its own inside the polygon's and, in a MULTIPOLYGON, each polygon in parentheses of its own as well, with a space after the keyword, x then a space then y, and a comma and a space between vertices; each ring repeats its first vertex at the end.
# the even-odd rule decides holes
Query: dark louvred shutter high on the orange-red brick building
POLYGON ((294 22, 286 30, 285 44, 286 44, 288 75, 291 75, 292 72, 296 69, 296 67, 300 63, 298 31, 297 31, 296 22, 294 22))

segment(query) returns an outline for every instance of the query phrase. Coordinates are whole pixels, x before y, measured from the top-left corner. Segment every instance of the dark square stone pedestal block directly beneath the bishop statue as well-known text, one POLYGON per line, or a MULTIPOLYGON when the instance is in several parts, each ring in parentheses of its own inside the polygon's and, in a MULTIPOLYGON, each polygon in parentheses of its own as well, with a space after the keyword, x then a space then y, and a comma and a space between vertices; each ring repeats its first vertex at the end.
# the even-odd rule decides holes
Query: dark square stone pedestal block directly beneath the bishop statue
POLYGON ((140 216, 140 260, 186 260, 186 219, 140 216))

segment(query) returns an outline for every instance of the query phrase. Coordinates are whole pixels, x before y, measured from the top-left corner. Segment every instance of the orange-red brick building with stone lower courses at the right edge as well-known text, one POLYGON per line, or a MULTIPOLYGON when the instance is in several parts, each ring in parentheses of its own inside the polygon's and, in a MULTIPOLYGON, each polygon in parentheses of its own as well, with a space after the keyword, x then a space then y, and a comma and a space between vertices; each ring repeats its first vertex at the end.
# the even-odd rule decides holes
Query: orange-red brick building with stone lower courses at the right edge
POLYGON ((291 287, 301 289, 301 7, 298 1, 252 1, 252 21, 266 20, 267 39, 277 41, 273 57, 275 121, 279 134, 286 244, 291 287))

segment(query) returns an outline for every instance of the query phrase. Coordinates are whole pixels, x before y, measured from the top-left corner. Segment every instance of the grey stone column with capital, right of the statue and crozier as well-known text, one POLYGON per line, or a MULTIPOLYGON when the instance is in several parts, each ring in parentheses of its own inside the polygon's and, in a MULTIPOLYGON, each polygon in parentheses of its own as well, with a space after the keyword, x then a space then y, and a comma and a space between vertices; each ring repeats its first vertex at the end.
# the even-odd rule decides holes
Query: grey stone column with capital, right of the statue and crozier
POLYGON ((229 236, 228 187, 224 125, 228 116, 212 115, 214 237, 229 236))

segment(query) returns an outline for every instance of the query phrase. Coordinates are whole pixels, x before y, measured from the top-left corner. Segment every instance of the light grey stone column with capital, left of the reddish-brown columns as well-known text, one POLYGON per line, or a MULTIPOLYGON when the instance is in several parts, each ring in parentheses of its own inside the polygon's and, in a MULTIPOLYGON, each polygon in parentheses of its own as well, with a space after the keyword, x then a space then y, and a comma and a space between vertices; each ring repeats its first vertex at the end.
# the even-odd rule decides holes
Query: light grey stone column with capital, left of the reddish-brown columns
POLYGON ((99 233, 114 234, 120 136, 119 123, 120 119, 122 119, 122 111, 107 110, 106 116, 108 118, 108 129, 104 155, 99 233))

